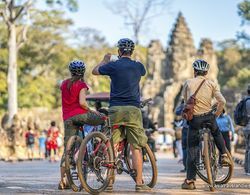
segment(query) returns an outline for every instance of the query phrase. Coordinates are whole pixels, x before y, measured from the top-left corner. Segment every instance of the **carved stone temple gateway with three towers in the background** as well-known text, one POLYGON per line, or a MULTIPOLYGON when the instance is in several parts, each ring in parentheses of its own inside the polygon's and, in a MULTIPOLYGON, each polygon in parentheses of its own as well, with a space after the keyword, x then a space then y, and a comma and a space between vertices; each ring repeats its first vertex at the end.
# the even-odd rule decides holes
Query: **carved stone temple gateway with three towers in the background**
POLYGON ((159 126, 171 128, 174 109, 180 102, 182 85, 193 77, 192 63, 202 58, 210 64, 208 77, 217 82, 218 66, 212 41, 202 39, 198 49, 182 13, 178 14, 164 50, 160 41, 151 41, 147 55, 148 78, 142 88, 143 97, 152 97, 150 115, 159 126))

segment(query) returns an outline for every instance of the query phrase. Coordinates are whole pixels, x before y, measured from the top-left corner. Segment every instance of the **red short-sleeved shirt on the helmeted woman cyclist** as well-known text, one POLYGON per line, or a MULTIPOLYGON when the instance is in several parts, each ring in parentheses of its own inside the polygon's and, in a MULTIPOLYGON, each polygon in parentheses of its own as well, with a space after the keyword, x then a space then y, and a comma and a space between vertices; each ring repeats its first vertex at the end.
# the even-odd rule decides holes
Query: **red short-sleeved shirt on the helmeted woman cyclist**
POLYGON ((68 89, 68 83, 69 79, 64 80, 61 85, 63 120, 88 112, 88 110, 83 109, 79 103, 80 91, 82 89, 89 89, 87 84, 78 80, 72 84, 70 89, 68 89))

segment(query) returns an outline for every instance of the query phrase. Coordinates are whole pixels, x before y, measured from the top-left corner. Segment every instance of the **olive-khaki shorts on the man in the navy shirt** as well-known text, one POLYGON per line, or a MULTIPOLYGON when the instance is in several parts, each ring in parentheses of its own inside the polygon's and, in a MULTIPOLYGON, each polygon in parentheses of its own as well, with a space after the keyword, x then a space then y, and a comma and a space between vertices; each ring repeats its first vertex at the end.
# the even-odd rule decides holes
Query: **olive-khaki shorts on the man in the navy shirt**
POLYGON ((139 108, 135 106, 112 106, 109 109, 109 117, 112 126, 125 127, 113 131, 114 143, 126 138, 136 149, 140 149, 147 144, 148 138, 142 126, 142 114, 139 108))

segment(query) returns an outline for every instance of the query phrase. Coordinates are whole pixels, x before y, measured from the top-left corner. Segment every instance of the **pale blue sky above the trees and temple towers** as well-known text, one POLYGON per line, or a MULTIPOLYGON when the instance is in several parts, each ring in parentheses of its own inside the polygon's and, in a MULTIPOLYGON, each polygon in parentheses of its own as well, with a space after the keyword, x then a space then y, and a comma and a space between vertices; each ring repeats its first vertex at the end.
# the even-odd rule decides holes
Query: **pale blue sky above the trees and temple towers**
MULTIPOLYGON (((124 25, 121 16, 114 15, 105 3, 109 0, 80 0, 79 10, 68 13, 76 27, 98 30, 110 45, 123 37, 132 38, 132 29, 124 25)), ((117 0, 119 1, 119 0, 117 0)), ((196 47, 201 38, 210 38, 215 43, 236 37, 241 30, 241 18, 237 13, 240 0, 172 0, 166 13, 154 18, 140 36, 143 45, 152 39, 160 39, 164 46, 175 23, 178 12, 186 18, 196 47)))

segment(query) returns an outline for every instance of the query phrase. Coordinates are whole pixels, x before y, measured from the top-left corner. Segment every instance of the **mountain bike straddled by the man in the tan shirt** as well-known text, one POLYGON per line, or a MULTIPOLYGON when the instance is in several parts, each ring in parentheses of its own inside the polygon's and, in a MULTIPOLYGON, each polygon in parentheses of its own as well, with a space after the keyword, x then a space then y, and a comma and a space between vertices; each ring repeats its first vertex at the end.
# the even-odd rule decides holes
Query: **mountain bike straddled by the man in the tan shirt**
POLYGON ((222 165, 220 162, 220 153, 211 135, 211 124, 203 124, 199 131, 199 137, 200 147, 196 172, 203 181, 209 184, 210 191, 214 191, 215 185, 226 184, 231 179, 234 169, 233 159, 229 151, 226 150, 231 163, 222 165))

